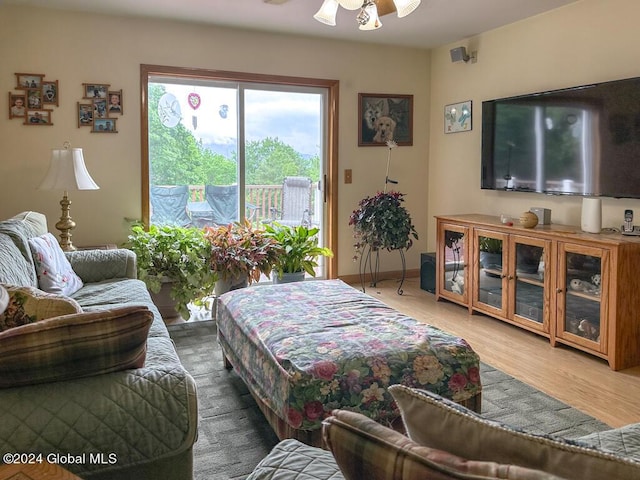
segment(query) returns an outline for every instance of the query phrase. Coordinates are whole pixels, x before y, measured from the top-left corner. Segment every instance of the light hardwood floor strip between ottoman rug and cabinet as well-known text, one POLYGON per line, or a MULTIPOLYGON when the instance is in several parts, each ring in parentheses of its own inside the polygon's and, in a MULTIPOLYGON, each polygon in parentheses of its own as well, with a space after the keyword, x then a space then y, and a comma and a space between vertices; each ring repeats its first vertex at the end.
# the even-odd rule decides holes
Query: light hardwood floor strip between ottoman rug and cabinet
MULTIPOLYGON (((359 284, 353 284, 360 288, 359 284)), ((546 338, 481 314, 420 289, 408 278, 404 294, 395 280, 366 293, 406 315, 458 335, 480 359, 612 427, 640 422, 640 367, 614 372, 608 364, 569 347, 551 347, 546 338)))

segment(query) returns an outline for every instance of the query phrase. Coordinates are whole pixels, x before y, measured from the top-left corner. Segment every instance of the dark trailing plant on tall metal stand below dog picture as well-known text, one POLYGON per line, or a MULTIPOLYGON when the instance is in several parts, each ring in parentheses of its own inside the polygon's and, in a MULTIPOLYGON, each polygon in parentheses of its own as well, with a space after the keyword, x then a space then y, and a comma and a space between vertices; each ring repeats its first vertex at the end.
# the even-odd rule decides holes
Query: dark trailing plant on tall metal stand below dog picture
POLYGON ((411 215, 402 205, 403 196, 399 192, 378 192, 360 200, 349 218, 358 253, 365 246, 373 250, 409 249, 413 240, 418 240, 411 215))

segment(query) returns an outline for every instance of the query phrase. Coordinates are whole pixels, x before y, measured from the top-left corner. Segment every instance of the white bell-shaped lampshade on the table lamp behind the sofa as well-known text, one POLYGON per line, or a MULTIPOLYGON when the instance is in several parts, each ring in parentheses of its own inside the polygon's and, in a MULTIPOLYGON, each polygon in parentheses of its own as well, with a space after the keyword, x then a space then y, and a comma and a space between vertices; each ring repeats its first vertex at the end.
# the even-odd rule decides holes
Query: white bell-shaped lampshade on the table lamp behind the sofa
POLYGON ((98 190, 84 164, 81 148, 51 150, 49 171, 39 190, 98 190))

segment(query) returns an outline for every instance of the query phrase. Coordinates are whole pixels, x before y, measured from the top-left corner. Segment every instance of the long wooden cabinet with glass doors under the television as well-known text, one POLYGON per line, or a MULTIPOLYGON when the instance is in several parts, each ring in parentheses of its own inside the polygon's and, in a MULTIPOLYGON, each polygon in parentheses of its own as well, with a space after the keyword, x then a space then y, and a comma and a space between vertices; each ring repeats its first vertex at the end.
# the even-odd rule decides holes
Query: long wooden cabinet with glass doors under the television
POLYGON ((640 365, 640 238, 437 216, 436 298, 604 358, 640 365), (496 251, 499 253, 496 254, 496 251))

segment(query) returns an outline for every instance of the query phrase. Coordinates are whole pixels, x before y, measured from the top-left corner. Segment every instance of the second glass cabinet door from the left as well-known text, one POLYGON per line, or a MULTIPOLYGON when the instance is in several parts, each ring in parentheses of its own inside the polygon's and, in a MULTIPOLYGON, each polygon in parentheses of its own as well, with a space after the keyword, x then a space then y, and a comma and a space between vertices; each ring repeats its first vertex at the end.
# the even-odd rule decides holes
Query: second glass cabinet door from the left
POLYGON ((477 302, 490 307, 504 310, 505 302, 503 293, 506 290, 503 274, 505 237, 500 233, 476 230, 478 253, 476 263, 477 288, 475 298, 477 302))

